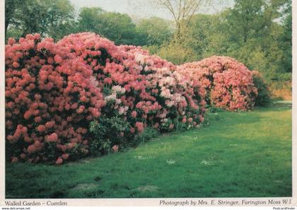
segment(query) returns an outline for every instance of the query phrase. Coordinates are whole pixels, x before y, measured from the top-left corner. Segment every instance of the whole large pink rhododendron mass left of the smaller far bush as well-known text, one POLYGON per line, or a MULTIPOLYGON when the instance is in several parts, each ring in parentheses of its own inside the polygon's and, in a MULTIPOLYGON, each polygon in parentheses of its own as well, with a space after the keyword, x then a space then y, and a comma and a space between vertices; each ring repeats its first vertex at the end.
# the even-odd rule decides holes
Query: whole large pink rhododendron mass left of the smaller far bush
POLYGON ((93 33, 6 45, 6 155, 61 164, 203 121, 206 91, 177 66, 93 33))

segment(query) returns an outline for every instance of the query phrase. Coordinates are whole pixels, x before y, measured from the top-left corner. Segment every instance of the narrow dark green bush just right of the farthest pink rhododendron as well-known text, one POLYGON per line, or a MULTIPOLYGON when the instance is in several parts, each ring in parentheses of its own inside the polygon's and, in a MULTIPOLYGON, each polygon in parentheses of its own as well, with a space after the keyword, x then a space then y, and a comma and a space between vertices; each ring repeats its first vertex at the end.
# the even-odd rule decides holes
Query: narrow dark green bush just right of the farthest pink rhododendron
POLYGON ((259 71, 252 71, 252 79, 255 87, 257 88, 257 98, 255 98, 255 106, 267 107, 271 104, 271 93, 267 84, 264 81, 262 74, 259 71))

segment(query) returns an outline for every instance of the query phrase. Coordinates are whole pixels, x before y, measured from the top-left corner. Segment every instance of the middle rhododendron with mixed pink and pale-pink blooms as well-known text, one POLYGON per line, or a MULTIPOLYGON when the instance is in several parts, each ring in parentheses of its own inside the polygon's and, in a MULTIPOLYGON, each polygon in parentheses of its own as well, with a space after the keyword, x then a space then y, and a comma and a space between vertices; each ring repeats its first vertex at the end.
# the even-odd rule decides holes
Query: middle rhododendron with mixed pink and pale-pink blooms
POLYGON ((93 76, 104 90, 106 105, 102 115, 129 122, 122 135, 113 130, 120 140, 111 144, 127 138, 132 141, 131 135, 140 134, 147 126, 168 132, 175 129, 173 121, 181 121, 182 117, 194 119, 187 122, 189 126, 202 122, 204 97, 194 98, 192 83, 175 71, 177 67, 170 62, 149 55, 141 47, 117 47, 93 33, 69 35, 58 45, 68 47, 69 52, 93 69, 93 76))

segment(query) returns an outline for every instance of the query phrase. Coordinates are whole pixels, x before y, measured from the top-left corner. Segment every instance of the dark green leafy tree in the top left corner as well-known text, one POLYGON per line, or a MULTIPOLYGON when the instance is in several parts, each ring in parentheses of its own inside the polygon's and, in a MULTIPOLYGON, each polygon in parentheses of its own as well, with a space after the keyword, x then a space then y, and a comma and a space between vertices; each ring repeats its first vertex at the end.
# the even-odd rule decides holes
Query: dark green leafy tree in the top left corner
POLYGON ((40 33, 59 39, 73 23, 74 6, 68 0, 12 0, 6 4, 7 31, 18 31, 21 36, 40 33), (13 9, 13 12, 10 11, 13 9), (68 27, 66 27, 68 26, 68 27))

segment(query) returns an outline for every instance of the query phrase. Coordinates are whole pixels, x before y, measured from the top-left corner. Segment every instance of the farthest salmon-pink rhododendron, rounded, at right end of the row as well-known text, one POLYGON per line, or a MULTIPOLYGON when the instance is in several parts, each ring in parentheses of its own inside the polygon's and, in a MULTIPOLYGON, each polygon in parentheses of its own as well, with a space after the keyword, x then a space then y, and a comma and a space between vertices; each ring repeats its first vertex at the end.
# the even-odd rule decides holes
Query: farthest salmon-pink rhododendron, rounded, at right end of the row
POLYGON ((193 83, 202 83, 209 105, 225 110, 250 110, 255 105, 252 71, 231 57, 209 57, 183 64, 178 71, 193 83))

